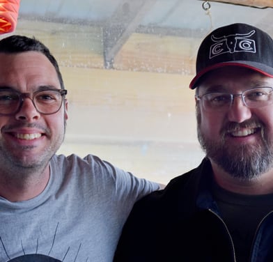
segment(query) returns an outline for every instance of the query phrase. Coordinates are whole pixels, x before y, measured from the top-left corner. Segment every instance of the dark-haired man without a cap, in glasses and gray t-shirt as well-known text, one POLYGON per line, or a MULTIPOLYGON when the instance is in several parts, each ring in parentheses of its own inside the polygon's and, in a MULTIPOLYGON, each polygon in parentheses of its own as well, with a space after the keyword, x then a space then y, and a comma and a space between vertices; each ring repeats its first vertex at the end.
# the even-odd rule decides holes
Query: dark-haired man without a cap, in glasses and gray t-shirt
POLYGON ((68 119, 40 41, 0 40, 0 261, 111 262, 135 201, 158 190, 94 155, 56 155, 68 119))

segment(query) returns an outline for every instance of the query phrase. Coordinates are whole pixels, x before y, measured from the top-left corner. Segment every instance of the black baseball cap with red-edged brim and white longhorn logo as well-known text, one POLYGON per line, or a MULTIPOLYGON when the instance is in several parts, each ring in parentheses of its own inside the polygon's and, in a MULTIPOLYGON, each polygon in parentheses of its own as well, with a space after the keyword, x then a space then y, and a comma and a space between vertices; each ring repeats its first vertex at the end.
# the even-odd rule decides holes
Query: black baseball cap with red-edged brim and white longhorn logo
POLYGON ((273 77, 272 38, 249 24, 230 24, 215 29, 198 49, 196 76, 189 88, 196 88, 205 73, 224 66, 249 68, 273 77))

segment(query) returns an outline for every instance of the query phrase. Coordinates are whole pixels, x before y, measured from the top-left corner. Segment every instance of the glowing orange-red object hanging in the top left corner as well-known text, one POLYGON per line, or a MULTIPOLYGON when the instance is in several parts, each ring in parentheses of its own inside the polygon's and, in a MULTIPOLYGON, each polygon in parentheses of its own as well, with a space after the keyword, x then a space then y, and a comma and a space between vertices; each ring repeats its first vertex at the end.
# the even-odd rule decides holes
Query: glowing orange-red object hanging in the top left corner
POLYGON ((0 0, 0 34, 15 30, 20 0, 0 0))

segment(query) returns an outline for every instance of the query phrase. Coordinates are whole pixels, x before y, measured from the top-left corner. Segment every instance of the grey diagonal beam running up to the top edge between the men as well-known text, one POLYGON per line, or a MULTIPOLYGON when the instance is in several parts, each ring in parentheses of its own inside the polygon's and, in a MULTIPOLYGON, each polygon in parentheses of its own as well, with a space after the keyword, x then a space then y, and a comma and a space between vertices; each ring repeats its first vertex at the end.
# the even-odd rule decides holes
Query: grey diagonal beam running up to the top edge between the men
POLYGON ((113 68, 114 58, 134 33, 156 0, 123 0, 103 29, 104 67, 113 68))

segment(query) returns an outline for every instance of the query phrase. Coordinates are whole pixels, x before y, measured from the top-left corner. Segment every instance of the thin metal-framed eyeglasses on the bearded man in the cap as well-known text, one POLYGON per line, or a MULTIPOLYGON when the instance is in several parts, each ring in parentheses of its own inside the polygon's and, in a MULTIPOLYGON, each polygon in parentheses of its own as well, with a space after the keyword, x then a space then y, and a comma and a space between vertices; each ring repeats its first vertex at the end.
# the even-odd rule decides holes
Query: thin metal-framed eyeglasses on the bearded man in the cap
POLYGON ((236 96, 240 96, 244 105, 249 108, 265 107, 273 103, 272 91, 273 87, 259 86, 237 94, 205 93, 204 95, 196 95, 196 100, 201 100, 205 111, 227 111, 230 109, 236 96))

